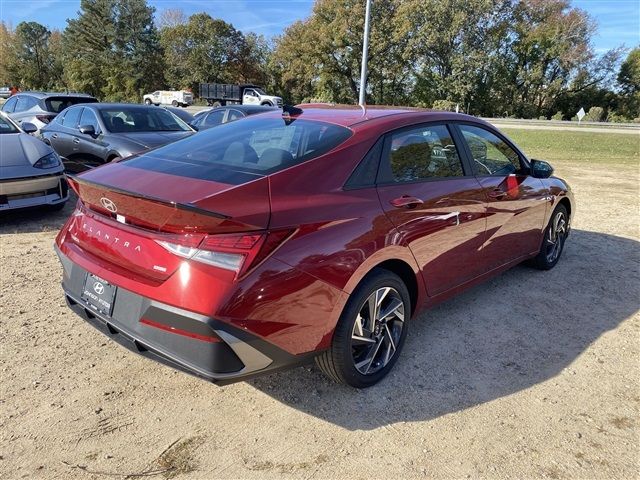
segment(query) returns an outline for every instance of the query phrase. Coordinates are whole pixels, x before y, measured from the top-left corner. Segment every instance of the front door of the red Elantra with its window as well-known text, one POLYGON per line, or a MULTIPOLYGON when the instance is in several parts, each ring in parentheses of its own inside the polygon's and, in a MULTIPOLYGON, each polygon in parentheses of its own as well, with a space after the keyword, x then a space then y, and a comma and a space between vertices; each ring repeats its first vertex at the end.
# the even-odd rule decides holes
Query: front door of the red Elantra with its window
POLYGON ((530 175, 524 156, 498 132, 458 126, 487 206, 483 261, 489 269, 536 252, 548 205, 548 190, 530 175))

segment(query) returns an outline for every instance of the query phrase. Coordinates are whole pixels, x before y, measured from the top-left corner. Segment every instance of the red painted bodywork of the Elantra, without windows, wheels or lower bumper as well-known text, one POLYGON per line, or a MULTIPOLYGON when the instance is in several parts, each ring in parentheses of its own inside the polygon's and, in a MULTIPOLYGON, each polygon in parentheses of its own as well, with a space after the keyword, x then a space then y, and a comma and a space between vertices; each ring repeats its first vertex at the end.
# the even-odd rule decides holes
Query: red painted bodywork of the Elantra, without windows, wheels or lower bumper
POLYGON ((562 201, 572 208, 564 182, 529 175, 345 188, 372 146, 396 129, 462 122, 500 135, 472 117, 402 109, 363 116, 359 108, 314 105, 294 118, 352 134, 317 158, 237 185, 127 161, 86 172, 71 182, 80 200, 56 239, 60 253, 118 288, 301 355, 330 345, 349 294, 375 266, 392 262, 390 268, 410 272, 415 316, 535 255, 554 207, 562 201), (267 232, 286 233, 270 241, 267 232), (221 234, 260 236, 251 254, 258 261, 236 273, 185 260, 158 243, 206 248, 221 234))

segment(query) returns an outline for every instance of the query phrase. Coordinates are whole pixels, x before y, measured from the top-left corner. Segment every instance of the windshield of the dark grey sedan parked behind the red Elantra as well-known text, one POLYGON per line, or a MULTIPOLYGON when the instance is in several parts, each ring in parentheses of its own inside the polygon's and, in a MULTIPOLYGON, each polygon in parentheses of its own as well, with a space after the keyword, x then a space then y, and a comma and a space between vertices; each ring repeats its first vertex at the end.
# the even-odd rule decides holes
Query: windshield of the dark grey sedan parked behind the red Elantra
POLYGON ((112 133, 188 132, 189 126, 163 108, 100 109, 102 121, 112 133))

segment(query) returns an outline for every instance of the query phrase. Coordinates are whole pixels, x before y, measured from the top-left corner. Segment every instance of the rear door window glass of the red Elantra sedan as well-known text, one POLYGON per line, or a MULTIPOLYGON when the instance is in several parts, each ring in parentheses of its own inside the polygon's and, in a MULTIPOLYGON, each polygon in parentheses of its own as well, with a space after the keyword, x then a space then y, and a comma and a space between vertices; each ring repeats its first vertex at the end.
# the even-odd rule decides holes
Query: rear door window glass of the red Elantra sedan
POLYGON ((428 125, 391 134, 386 155, 390 180, 396 183, 462 177, 462 163, 449 129, 428 125))

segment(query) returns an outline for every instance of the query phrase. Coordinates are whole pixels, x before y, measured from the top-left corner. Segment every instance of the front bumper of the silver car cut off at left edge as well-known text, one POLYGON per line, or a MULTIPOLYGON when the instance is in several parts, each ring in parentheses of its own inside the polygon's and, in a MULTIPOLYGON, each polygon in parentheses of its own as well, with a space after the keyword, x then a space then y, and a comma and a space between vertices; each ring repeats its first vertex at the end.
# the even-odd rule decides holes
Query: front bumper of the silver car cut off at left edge
POLYGON ((68 198, 69 187, 62 173, 0 181, 0 211, 55 205, 68 198))

